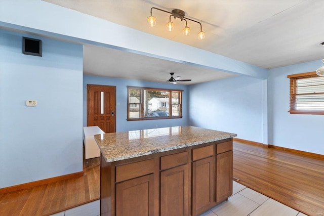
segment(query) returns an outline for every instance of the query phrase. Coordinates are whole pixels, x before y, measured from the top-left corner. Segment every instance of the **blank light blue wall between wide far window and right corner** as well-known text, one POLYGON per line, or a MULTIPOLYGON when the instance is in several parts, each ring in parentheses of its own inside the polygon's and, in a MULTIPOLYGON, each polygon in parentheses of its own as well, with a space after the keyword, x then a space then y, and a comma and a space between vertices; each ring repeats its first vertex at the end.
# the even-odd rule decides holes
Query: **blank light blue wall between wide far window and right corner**
POLYGON ((265 83, 266 80, 236 76, 191 85, 189 124, 264 143, 267 139, 265 83))

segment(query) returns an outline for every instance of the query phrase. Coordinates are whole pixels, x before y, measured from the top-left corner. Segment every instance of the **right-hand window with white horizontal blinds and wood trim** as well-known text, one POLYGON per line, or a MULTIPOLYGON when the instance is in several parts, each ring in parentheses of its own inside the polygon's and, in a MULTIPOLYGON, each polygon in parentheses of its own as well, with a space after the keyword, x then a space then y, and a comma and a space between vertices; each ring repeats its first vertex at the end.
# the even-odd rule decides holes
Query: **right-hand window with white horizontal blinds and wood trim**
POLYGON ((315 72, 288 75, 291 114, 324 114, 324 76, 315 72))

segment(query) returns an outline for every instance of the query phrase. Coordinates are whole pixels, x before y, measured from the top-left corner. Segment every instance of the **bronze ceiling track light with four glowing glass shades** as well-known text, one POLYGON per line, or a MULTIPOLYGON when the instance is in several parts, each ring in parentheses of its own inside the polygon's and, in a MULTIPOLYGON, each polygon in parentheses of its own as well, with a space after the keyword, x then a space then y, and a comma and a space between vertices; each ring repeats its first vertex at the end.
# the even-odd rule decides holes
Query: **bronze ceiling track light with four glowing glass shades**
POLYGON ((179 18, 179 19, 181 19, 181 21, 184 20, 186 22, 186 26, 183 28, 182 32, 183 32, 183 35, 188 36, 188 35, 190 35, 190 27, 188 27, 187 20, 190 20, 190 21, 196 22, 196 23, 198 23, 200 25, 200 31, 197 34, 198 39, 199 40, 205 39, 205 32, 203 31, 203 27, 201 26, 201 23, 198 22, 198 21, 195 21, 193 19, 185 17, 185 12, 180 10, 180 9, 174 9, 174 10, 172 10, 172 12, 169 12, 169 11, 165 11, 165 10, 162 10, 162 9, 159 9, 159 8, 152 7, 151 8, 151 16, 147 17, 148 26, 154 27, 156 25, 156 18, 152 16, 152 9, 155 9, 155 10, 158 10, 158 11, 163 11, 165 13, 171 14, 170 17, 169 17, 169 22, 166 24, 168 31, 173 31, 174 30, 174 23, 171 22, 171 17, 174 17, 175 19, 179 18))

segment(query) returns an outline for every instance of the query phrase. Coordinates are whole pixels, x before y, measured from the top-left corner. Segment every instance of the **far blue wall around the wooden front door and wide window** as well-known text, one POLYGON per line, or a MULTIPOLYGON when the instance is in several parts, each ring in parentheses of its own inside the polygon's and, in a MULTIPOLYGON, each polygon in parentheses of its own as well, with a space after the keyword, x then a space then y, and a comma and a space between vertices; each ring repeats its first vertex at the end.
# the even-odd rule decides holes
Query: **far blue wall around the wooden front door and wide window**
POLYGON ((148 129, 156 127, 169 127, 188 124, 188 87, 186 85, 174 85, 131 79, 117 79, 102 76, 84 76, 83 84, 83 124, 87 125, 87 84, 114 85, 116 87, 116 132, 132 131, 136 129, 148 129), (182 95, 182 118, 156 119, 142 121, 127 121, 127 86, 150 87, 159 89, 184 90, 182 95))

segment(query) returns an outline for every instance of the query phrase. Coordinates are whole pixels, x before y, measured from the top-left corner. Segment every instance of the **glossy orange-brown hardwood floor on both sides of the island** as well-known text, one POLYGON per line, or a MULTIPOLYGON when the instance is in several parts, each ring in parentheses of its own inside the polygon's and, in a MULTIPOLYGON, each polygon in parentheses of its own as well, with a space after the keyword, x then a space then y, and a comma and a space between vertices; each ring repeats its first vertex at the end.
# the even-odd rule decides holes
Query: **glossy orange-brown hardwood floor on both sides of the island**
MULTIPOLYGON (((238 183, 305 214, 324 215, 324 159, 239 142, 233 153, 238 183)), ((98 200, 99 169, 99 159, 91 159, 83 177, 0 195, 0 215, 49 215, 98 200)))

